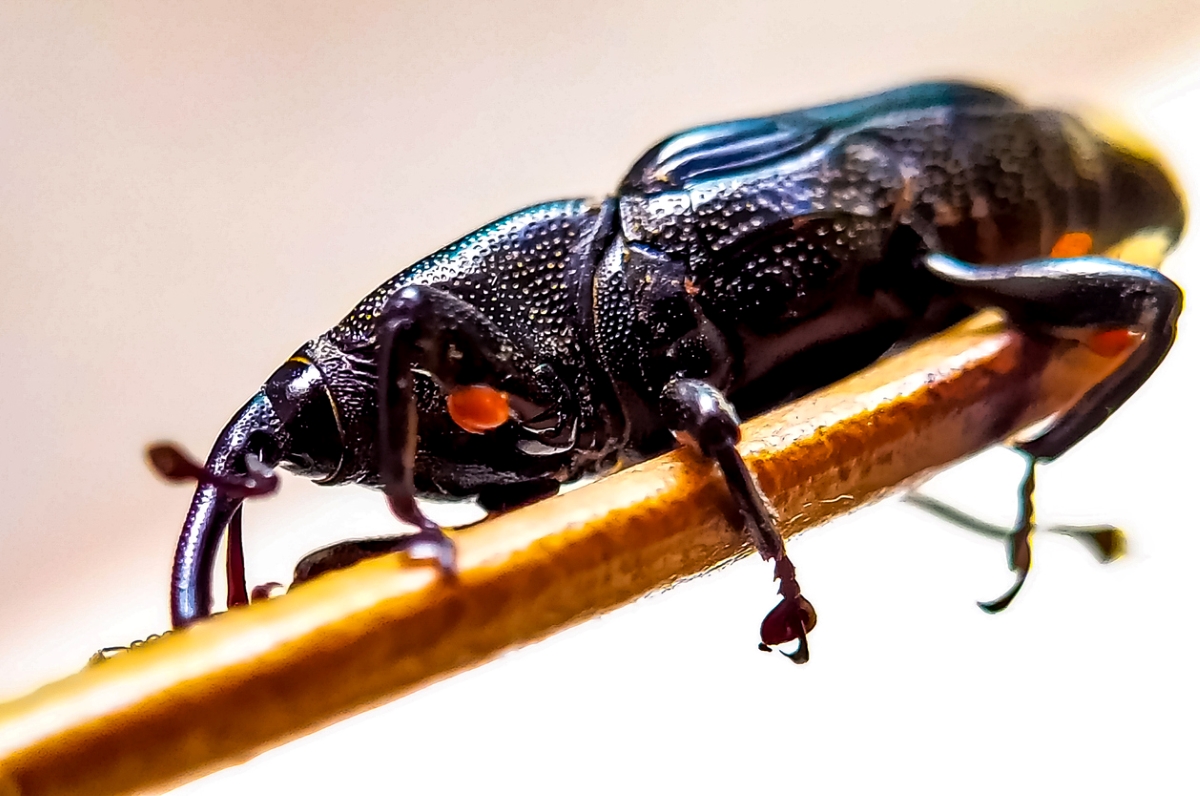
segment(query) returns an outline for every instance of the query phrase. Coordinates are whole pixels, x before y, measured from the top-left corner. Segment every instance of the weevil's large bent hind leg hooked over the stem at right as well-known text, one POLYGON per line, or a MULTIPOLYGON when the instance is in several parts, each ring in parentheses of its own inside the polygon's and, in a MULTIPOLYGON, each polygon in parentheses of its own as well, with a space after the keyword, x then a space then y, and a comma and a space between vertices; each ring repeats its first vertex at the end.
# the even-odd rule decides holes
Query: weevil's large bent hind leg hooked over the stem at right
POLYGON ((1057 459, 1096 430, 1154 372, 1175 342, 1183 293, 1154 269, 1103 257, 972 265, 944 255, 928 255, 925 267, 956 287, 968 304, 998 306, 1030 334, 1079 339, 1081 331, 1087 333, 1084 342, 1102 355, 1123 354, 1130 345, 1136 346, 1111 376, 1049 429, 1015 445, 1028 459, 1016 528, 1008 537, 1009 567, 1016 573, 1016 582, 998 599, 979 604, 985 611, 1000 611, 1012 603, 1030 570, 1038 462, 1057 459))

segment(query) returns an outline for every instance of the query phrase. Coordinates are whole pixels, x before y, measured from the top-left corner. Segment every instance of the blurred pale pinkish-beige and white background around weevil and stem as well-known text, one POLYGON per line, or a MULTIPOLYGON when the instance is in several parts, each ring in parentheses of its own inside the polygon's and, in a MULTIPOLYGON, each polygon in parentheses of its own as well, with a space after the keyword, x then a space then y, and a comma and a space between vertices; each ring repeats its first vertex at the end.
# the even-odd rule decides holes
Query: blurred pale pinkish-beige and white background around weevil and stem
MULTIPOLYGON (((197 455, 299 343, 401 267, 541 199, 598 196, 674 130, 922 78, 1123 116, 1200 196, 1190 0, 0 5, 0 698, 168 626, 197 455)), ((1195 199, 1193 198, 1195 202, 1195 199)), ((1200 243, 1169 263, 1200 287, 1200 243)), ((1039 479, 1045 522, 1115 522, 1098 565, 889 502, 793 540, 803 669, 756 651, 745 561, 179 792, 1181 792, 1196 786, 1195 313, 1169 361, 1039 479)), ((992 451, 934 495, 1008 522, 992 451)), ((394 528, 287 478, 247 510, 252 582, 394 528)))

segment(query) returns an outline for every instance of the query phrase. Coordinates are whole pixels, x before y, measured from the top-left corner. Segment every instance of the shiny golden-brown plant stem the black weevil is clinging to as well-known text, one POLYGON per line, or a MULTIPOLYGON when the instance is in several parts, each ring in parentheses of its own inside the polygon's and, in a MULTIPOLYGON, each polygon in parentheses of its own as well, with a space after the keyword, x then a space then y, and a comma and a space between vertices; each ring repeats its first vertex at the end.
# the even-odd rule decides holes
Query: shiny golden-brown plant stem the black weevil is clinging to
MULTIPOLYGON (((794 534, 1117 364, 985 313, 751 420, 740 449, 794 534)), ((385 556, 214 617, 0 706, 0 796, 164 789, 244 761, 749 552, 732 514, 715 469, 677 451, 456 534, 457 582, 385 556)))

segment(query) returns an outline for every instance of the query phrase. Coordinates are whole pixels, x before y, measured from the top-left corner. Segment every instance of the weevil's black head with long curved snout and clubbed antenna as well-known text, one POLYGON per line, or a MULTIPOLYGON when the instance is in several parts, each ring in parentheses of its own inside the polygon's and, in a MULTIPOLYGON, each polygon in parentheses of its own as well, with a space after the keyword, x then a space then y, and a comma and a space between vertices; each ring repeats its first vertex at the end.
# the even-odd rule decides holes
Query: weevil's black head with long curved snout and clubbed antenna
POLYGON ((307 475, 331 473, 340 448, 324 378, 312 363, 296 357, 275 371, 226 425, 204 467, 170 445, 150 449, 151 462, 166 478, 198 481, 170 575, 173 627, 186 627, 212 612, 212 570, 221 534, 244 499, 275 491, 274 467, 290 465, 307 475))

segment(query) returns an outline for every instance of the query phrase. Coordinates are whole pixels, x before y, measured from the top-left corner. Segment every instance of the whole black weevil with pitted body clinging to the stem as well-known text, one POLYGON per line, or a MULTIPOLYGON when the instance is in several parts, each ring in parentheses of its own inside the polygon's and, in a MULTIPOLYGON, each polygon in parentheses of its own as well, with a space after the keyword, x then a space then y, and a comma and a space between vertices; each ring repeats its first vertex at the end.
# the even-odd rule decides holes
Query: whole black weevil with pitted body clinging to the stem
MULTIPOLYGON (((739 456, 739 417, 828 384, 893 346, 996 306, 1031 335, 1133 349, 1040 436, 1008 537, 1030 569, 1033 477, 1116 409, 1175 337, 1178 287, 1093 252, 1184 211, 1148 157, 1072 115, 930 83, 664 139, 616 193, 539 204, 406 268, 296 351, 234 415, 198 480, 172 574, 172 620, 211 611, 217 544, 274 468, 383 490, 412 532, 318 551, 296 579, 404 551, 452 574, 418 497, 503 511, 677 443, 724 474, 781 602, 763 648, 816 622, 767 499, 739 456)), ((232 565, 236 574, 240 564, 232 565)), ((235 586, 232 579, 230 588, 235 586)), ((241 599, 245 599, 242 595, 241 599)))

